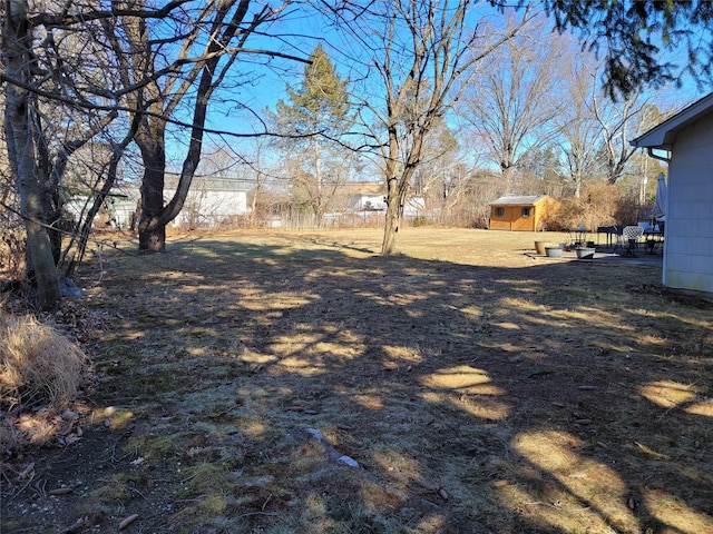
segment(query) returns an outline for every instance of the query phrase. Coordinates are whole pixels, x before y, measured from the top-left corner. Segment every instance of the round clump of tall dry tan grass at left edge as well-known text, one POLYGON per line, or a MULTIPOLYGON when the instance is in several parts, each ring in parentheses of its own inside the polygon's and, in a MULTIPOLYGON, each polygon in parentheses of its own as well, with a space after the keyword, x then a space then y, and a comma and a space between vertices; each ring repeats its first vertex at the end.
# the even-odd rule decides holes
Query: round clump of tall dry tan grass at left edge
POLYGON ((50 406, 71 403, 86 356, 51 326, 30 315, 0 312, 0 406, 50 406))

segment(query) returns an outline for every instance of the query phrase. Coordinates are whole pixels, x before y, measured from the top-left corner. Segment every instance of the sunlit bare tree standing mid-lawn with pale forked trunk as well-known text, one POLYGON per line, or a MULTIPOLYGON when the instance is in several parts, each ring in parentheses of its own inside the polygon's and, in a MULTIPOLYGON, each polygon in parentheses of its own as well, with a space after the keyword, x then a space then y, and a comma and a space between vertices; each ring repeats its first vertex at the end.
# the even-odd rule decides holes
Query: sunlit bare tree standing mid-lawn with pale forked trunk
MULTIPOLYGON (((399 253, 397 236, 423 147, 463 90, 469 69, 511 39, 533 17, 498 32, 480 20, 475 0, 342 2, 340 24, 359 44, 354 59, 372 69, 377 91, 364 93, 361 123, 378 149, 387 184, 383 255, 399 253), (354 22, 356 20, 356 22, 354 22)), ((369 92, 369 91, 368 91, 369 92)))

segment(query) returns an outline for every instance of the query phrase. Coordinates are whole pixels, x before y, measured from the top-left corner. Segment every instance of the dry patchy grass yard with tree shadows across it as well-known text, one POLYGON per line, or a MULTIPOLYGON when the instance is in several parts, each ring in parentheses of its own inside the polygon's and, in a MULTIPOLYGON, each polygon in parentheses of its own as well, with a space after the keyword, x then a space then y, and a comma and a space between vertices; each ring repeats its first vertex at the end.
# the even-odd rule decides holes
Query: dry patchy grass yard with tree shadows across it
POLYGON ((65 310, 81 438, 4 481, 2 532, 713 532, 711 305, 541 236, 119 239, 65 310))

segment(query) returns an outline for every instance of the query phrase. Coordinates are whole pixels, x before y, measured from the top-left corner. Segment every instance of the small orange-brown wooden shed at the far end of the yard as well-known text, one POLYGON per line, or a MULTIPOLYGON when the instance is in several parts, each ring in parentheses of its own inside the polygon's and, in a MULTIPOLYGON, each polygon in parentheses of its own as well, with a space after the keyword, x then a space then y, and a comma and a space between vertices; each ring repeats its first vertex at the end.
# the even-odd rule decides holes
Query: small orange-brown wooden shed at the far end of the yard
POLYGON ((491 230, 541 231, 557 201, 547 195, 508 195, 490 202, 491 230))

